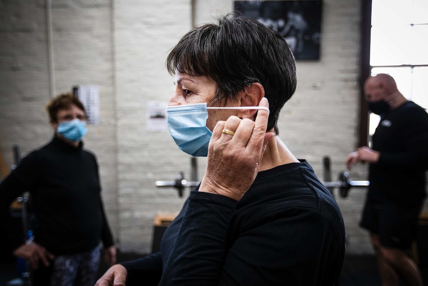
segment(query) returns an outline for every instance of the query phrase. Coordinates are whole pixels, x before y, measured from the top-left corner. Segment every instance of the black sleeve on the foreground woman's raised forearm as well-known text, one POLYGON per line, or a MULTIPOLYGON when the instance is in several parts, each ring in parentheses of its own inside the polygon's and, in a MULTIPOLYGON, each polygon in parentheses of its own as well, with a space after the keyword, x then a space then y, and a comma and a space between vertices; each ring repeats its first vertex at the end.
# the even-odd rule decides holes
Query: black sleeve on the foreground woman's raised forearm
POLYGON ((217 285, 236 201, 192 191, 159 285, 217 285))

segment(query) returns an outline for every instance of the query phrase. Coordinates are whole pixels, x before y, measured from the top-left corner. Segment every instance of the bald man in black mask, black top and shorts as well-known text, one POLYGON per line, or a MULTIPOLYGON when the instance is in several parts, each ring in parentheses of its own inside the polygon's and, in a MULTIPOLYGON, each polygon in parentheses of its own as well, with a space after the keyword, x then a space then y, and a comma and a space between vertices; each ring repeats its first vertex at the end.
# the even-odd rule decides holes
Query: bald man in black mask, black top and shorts
POLYGON ((407 255, 416 239, 419 214, 426 193, 428 114, 407 100, 386 74, 367 78, 364 96, 368 109, 380 115, 372 148, 363 146, 348 155, 351 169, 368 162, 368 193, 360 226, 370 232, 383 285, 422 286, 415 261, 407 255))

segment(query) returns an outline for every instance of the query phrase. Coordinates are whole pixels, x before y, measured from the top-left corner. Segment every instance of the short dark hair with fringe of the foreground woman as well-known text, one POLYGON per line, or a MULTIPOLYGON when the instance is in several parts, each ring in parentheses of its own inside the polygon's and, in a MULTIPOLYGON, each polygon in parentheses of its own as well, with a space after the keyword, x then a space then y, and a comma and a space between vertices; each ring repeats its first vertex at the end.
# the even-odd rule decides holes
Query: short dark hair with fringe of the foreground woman
POLYGON ((270 108, 267 130, 277 133, 279 112, 296 89, 295 60, 285 39, 242 15, 228 14, 189 31, 168 54, 166 67, 171 75, 178 70, 213 79, 214 102, 234 99, 254 82, 262 84, 270 108))

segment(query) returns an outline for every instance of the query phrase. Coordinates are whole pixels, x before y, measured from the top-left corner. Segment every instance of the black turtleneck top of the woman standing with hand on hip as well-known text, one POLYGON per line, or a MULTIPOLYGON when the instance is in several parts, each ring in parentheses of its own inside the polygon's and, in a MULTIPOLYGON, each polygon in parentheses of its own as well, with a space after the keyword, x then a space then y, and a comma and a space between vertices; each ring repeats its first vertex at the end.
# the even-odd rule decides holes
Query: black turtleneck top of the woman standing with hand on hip
POLYGON ((9 207, 25 191, 35 216, 34 241, 52 254, 88 251, 101 240, 104 247, 114 244, 101 200, 98 164, 83 143, 74 147, 54 137, 1 182, 0 232, 6 253, 24 243, 11 225, 9 207))

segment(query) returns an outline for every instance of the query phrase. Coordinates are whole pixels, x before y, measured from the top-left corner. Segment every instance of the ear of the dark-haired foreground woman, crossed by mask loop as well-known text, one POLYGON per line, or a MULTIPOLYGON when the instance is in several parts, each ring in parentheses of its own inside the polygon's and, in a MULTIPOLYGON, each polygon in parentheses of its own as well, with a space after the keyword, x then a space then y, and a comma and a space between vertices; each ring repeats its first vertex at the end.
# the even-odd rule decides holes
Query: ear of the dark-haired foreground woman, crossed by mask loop
MULTIPOLYGON (((265 97, 265 89, 260 83, 253 83, 240 93, 241 106, 259 106, 260 100, 265 97)), ((240 109, 238 117, 253 119, 257 109, 240 109)))

